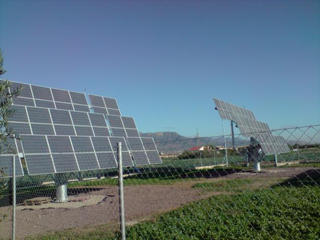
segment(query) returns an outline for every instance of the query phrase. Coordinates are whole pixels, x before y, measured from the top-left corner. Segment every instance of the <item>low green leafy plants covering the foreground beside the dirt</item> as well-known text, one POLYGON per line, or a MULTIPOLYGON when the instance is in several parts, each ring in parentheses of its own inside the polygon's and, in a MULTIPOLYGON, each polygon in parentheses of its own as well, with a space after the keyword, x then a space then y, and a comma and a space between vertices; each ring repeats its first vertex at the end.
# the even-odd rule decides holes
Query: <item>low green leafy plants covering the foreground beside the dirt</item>
MULTIPOLYGON (((317 180, 319 183, 319 179, 317 180)), ((127 239, 317 239, 320 237, 320 188, 247 188, 252 180, 199 183, 194 188, 225 194, 159 214, 153 221, 126 228, 127 239), (232 192, 230 195, 229 193, 232 192)), ((285 184, 284 184, 285 185, 285 184)), ((29 239, 120 239, 104 226, 66 230, 29 239)))

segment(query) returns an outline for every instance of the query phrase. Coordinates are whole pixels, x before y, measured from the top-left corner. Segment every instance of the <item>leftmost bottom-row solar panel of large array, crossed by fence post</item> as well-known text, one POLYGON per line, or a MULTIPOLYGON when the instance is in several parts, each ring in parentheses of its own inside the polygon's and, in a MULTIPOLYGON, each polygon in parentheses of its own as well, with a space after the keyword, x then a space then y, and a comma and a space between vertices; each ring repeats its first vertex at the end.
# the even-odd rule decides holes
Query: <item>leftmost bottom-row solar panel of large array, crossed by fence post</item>
MULTIPOLYGON (((12 177, 12 155, 1 155, 0 156, 0 179, 12 177)), ((15 161, 15 176, 24 176, 22 164, 19 156, 14 156, 15 161)))

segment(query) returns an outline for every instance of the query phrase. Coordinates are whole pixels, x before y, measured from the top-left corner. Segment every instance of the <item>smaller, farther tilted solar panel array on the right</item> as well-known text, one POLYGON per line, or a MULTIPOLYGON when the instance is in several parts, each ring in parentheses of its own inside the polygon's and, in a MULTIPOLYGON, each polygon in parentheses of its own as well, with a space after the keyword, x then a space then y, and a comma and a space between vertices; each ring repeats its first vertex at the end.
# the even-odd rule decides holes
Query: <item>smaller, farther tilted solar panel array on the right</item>
POLYGON ((214 101, 220 117, 236 122, 243 136, 257 139, 266 155, 290 151, 285 139, 272 135, 268 124, 257 121, 251 111, 217 98, 214 101))

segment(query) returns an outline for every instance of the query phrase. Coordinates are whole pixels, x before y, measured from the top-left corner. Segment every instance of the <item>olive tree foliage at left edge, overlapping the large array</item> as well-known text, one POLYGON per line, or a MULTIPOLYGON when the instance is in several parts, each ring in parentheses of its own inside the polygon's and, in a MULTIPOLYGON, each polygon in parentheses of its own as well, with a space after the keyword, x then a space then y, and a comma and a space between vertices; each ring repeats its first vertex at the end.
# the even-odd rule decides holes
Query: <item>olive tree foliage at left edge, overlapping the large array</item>
MULTIPOLYGON (((3 68, 3 56, 0 49, 0 76, 6 72, 3 68)), ((11 82, 8 80, 0 81, 0 155, 16 154, 15 146, 10 144, 10 139, 19 138, 14 129, 9 127, 9 119, 15 114, 15 111, 10 107, 12 105, 12 98, 18 96, 20 88, 11 88, 11 82)), ((4 176, 4 169, 1 169, 0 163, 0 178, 4 176)), ((0 186, 1 190, 1 186, 0 186)))

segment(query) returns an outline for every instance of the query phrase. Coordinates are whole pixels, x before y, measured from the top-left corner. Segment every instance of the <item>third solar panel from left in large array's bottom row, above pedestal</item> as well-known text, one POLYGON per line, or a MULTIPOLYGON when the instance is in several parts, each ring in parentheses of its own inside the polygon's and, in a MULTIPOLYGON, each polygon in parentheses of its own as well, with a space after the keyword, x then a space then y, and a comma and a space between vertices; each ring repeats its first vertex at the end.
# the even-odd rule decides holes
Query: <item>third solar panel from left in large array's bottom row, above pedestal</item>
POLYGON ((52 159, 56 172, 79 171, 74 154, 53 154, 52 159))

